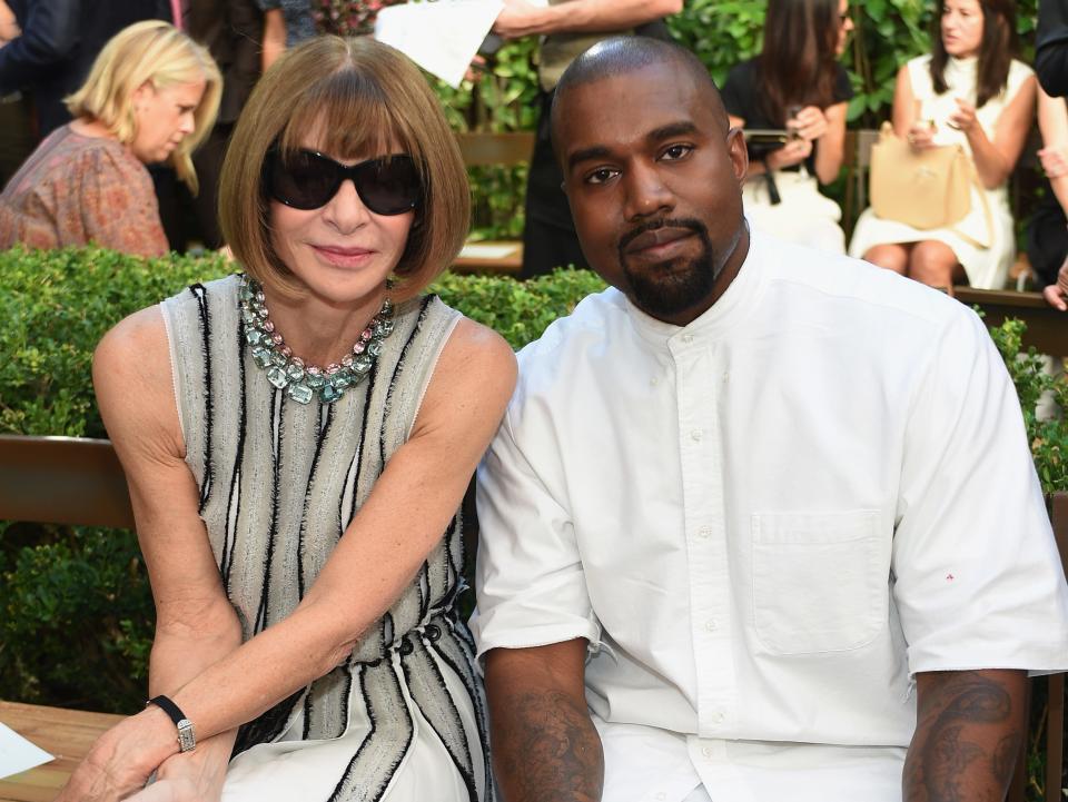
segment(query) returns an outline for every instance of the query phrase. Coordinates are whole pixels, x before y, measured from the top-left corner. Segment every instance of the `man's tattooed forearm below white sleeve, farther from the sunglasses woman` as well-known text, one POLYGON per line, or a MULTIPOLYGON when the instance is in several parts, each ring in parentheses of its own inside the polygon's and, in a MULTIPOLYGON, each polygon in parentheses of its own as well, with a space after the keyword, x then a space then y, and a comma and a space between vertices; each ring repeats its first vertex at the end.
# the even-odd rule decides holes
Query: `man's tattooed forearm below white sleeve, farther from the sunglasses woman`
POLYGON ((1001 802, 1026 734, 1022 671, 917 675, 904 802, 1001 802))

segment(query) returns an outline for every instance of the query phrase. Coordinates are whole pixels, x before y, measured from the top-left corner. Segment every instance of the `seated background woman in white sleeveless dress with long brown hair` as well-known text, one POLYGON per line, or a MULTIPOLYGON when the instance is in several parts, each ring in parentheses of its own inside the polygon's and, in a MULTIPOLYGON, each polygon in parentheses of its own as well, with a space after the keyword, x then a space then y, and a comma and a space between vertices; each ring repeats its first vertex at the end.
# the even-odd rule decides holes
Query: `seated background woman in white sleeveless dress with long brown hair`
POLYGON ((1012 58, 1011 0, 946 0, 933 52, 898 71, 893 129, 916 149, 960 145, 982 190, 951 228, 918 229, 866 209, 850 256, 934 287, 1000 289, 1016 257, 1007 184, 1035 113, 1035 73, 1012 58), (980 196, 982 191, 982 196, 980 196))

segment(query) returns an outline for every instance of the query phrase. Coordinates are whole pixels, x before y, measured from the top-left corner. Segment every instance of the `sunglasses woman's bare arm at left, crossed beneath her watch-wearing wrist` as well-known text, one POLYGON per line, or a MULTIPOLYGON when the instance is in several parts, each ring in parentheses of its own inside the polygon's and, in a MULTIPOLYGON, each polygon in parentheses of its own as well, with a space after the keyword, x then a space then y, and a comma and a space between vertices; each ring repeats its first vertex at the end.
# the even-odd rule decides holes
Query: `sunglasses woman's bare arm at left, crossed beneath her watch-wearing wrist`
MULTIPOLYGON (((101 340, 93 384, 130 488, 138 538, 156 602, 149 696, 174 695, 241 643, 222 590, 197 488, 184 463, 170 357, 158 307, 131 316, 101 340)), ((217 800, 236 732, 174 755, 146 793, 155 799, 217 800)))

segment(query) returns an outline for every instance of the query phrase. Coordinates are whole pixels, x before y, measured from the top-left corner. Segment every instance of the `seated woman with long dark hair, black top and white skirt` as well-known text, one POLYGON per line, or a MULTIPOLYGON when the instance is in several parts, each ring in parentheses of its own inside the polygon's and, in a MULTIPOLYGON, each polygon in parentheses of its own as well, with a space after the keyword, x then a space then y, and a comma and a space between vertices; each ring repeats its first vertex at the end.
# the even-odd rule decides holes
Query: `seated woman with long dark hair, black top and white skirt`
POLYGON ((817 181, 830 184, 842 166, 853 91, 838 58, 852 27, 847 0, 770 0, 763 50, 723 85, 732 126, 792 137, 770 151, 750 146, 745 215, 781 239, 835 254, 846 253, 842 210, 817 181))

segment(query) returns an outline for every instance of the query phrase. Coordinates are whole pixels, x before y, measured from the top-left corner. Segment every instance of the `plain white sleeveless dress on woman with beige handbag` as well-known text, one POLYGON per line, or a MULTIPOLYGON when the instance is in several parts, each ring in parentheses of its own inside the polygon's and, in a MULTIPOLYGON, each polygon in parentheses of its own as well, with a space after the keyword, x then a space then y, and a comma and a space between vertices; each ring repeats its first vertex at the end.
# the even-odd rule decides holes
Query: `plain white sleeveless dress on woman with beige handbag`
MULTIPOLYGON (((920 119, 933 120, 936 145, 960 145, 971 156, 971 147, 963 131, 952 129, 948 123, 950 115, 957 111, 955 98, 970 103, 976 102, 976 87, 979 60, 950 58, 946 65, 948 88, 941 95, 934 92, 931 80, 931 57, 920 56, 908 63, 909 81, 912 93, 920 102, 920 119)), ((1009 65, 1008 86, 1005 91, 990 98, 976 110, 976 117, 983 132, 993 139, 995 127, 1005 107, 1008 106, 1020 87, 1034 73, 1022 61, 1013 60, 1009 65)), ((876 217, 869 208, 857 220, 853 238, 849 244, 849 255, 863 258, 864 254, 877 245, 891 242, 922 242, 938 240, 948 245, 957 260, 968 275, 968 283, 979 289, 1001 289, 1009 275, 1009 267, 1016 258, 1016 237, 1012 230, 1012 212, 1009 209, 1008 182, 993 189, 979 190, 972 187, 971 211, 952 228, 921 230, 896 220, 876 217), (990 209, 990 226, 987 226, 986 212, 979 192, 986 196, 990 209), (961 236, 963 234, 965 236, 961 236)))

